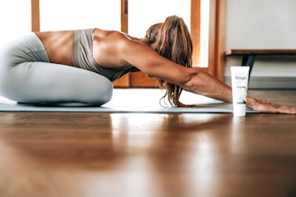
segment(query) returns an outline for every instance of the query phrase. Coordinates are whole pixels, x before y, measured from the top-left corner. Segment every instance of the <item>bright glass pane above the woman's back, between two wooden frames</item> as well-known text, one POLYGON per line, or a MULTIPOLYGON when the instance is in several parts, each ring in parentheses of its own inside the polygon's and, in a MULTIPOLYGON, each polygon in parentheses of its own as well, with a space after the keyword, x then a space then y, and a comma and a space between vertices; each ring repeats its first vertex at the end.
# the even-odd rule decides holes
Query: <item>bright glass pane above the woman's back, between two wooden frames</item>
POLYGON ((40 0, 41 31, 101 28, 120 31, 118 0, 40 0))

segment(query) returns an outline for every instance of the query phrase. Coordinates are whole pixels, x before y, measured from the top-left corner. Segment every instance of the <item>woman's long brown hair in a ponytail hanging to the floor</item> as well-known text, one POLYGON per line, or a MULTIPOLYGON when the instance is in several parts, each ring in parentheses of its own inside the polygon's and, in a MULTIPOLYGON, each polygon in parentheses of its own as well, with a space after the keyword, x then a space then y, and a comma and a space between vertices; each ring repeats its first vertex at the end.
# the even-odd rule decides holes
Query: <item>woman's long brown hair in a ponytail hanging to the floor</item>
MULTIPOLYGON (((192 67, 192 40, 183 19, 176 15, 169 16, 164 22, 153 24, 147 31, 145 41, 165 58, 184 66, 192 67)), ((180 103, 182 88, 157 78, 158 85, 166 89, 162 99, 167 98, 172 106, 187 107, 180 103)), ((162 100, 161 99, 161 100, 162 100)))

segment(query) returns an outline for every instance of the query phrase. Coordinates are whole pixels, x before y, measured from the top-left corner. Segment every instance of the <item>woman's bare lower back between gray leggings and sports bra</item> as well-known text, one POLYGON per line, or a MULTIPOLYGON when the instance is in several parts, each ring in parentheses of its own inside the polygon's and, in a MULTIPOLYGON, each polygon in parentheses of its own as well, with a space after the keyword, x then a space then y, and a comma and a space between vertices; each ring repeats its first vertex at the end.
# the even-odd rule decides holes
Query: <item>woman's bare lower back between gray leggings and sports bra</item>
POLYGON ((44 31, 36 35, 42 40, 51 63, 74 66, 73 31, 44 31))

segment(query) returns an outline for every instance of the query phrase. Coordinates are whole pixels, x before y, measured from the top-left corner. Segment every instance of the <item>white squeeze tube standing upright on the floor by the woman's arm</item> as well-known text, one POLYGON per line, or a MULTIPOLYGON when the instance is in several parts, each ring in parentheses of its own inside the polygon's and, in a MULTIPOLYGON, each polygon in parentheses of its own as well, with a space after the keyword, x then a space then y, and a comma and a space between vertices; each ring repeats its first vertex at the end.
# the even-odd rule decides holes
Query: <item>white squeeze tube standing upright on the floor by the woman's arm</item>
POLYGON ((245 116, 245 101, 250 67, 234 66, 231 69, 232 100, 234 116, 245 116))

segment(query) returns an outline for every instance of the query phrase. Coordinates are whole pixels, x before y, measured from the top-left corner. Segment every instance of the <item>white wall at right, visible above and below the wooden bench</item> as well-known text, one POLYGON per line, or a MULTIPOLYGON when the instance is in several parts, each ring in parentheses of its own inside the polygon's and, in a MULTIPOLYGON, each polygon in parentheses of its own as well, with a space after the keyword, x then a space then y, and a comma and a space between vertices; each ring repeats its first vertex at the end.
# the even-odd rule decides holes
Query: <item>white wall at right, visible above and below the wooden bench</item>
MULTIPOLYGON (((295 9, 295 0, 227 0, 226 49, 296 49, 295 9)), ((240 64, 226 59, 226 80, 240 64)), ((252 76, 294 79, 296 56, 257 57, 252 76)))

